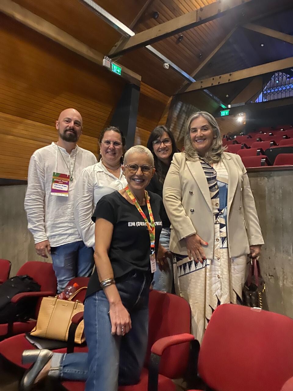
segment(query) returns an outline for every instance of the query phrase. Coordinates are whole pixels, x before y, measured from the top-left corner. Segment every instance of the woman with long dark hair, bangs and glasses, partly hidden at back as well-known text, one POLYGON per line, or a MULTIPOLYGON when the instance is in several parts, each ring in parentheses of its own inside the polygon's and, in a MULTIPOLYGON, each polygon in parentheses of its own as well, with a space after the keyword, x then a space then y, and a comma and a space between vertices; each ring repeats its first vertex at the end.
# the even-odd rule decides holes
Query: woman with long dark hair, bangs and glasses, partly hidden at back
MULTIPOLYGON (((166 126, 157 126, 150 134, 147 142, 148 149, 152 152, 155 162, 155 174, 152 177, 147 190, 163 197, 163 185, 169 170, 173 154, 178 152, 174 136, 166 126)), ((163 210, 163 229, 160 236, 161 245, 169 251, 170 243, 170 220, 166 210, 163 210)), ((154 274, 152 282, 154 289, 170 293, 173 287, 173 265, 171 256, 168 264, 160 264, 154 274)))

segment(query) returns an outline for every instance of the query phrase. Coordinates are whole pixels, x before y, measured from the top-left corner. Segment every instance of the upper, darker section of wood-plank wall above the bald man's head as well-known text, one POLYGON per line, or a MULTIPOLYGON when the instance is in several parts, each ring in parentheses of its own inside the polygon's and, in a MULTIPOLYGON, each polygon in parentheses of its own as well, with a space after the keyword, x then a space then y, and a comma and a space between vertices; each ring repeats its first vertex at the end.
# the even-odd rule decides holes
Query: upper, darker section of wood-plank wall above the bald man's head
POLYGON ((0 111, 47 125, 74 107, 84 134, 109 124, 125 81, 1 15, 0 111))

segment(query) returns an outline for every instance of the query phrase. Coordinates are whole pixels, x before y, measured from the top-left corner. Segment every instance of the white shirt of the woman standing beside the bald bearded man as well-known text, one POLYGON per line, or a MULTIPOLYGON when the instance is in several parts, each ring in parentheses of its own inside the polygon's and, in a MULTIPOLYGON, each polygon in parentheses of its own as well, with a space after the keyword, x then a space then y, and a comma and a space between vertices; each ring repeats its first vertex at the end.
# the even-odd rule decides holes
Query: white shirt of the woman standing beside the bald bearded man
POLYGON ((120 168, 120 176, 116 178, 102 163, 87 167, 82 171, 74 191, 75 224, 84 244, 95 246, 95 223, 91 220, 96 204, 103 195, 121 190, 127 181, 120 168))

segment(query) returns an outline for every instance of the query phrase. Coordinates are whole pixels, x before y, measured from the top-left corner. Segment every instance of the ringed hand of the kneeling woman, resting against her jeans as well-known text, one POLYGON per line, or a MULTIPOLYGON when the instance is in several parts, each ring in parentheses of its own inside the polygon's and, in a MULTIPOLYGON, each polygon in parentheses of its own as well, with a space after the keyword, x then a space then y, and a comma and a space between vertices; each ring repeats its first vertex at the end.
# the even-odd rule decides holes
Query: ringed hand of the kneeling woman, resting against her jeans
POLYGON ((121 301, 118 303, 110 303, 109 316, 112 335, 125 335, 129 332, 131 329, 130 315, 121 301))

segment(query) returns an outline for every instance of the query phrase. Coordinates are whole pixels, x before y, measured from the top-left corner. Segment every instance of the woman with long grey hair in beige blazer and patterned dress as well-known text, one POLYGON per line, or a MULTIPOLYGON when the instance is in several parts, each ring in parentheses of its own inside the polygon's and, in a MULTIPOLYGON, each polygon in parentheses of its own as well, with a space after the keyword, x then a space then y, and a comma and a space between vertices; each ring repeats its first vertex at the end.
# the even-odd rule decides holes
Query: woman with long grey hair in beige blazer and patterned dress
POLYGON ((263 244, 246 169, 224 150, 214 117, 193 114, 163 188, 175 289, 191 306, 200 342, 218 305, 242 303, 247 255, 258 257, 263 244))

